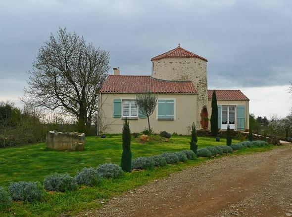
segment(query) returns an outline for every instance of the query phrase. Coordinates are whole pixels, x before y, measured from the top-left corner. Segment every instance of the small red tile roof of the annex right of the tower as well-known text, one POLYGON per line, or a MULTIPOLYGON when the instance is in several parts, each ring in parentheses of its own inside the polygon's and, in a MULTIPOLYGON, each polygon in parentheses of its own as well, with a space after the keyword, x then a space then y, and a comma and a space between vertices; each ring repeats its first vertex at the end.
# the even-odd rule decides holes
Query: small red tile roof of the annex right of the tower
MULTIPOLYGON (((213 90, 208 90, 208 99, 212 99, 213 90)), ((241 90, 216 90, 217 100, 249 100, 241 90)))

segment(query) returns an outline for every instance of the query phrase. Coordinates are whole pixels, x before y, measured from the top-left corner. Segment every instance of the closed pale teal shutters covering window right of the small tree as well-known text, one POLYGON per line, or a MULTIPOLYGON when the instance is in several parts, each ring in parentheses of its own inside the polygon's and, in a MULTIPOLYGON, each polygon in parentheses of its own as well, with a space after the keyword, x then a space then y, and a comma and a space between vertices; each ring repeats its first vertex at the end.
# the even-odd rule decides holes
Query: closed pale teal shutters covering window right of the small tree
POLYGON ((174 100, 158 100, 158 120, 174 119, 174 100))

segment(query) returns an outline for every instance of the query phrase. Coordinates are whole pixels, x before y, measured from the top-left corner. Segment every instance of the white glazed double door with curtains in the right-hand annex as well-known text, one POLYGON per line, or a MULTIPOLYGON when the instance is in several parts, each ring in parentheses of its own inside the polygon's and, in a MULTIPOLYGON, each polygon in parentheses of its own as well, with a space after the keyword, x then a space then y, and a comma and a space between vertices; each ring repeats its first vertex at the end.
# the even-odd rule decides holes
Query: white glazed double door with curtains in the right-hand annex
POLYGON ((235 106, 222 106, 221 129, 226 130, 229 125, 230 129, 235 129, 235 106))

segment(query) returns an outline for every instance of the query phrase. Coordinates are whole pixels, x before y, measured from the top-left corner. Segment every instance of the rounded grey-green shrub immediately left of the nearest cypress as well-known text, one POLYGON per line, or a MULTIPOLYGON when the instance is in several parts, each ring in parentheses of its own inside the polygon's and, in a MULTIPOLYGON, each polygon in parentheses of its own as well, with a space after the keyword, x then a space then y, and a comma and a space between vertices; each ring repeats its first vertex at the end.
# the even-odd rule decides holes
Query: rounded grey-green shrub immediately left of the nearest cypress
POLYGON ((97 173, 102 178, 119 178, 123 175, 122 168, 117 164, 105 163, 97 167, 97 173))

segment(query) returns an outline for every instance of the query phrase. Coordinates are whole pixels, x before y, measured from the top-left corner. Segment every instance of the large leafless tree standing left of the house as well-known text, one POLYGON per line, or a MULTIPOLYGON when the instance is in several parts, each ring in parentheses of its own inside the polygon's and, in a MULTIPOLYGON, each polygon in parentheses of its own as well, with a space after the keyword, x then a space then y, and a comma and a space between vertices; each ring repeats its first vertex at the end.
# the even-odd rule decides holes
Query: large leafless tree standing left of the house
POLYGON ((109 70, 109 53, 76 33, 59 29, 39 49, 22 101, 45 109, 61 109, 86 131, 98 110, 99 89, 109 70))

